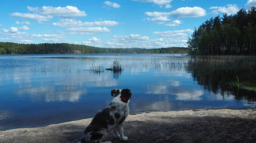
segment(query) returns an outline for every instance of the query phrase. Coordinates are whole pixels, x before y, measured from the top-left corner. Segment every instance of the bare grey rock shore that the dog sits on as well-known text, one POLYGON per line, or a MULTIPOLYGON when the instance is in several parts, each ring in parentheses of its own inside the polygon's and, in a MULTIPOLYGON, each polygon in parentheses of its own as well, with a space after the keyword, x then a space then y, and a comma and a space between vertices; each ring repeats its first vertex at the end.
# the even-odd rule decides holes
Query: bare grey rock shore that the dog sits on
MULTIPOLYGON (((90 119, 0 131, 0 143, 77 143, 90 119)), ((126 143, 256 143, 256 109, 129 115, 126 143)), ((121 143, 109 133, 107 141, 121 143)), ((122 142, 124 143, 124 142, 122 142)))

